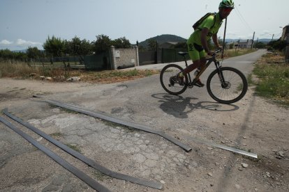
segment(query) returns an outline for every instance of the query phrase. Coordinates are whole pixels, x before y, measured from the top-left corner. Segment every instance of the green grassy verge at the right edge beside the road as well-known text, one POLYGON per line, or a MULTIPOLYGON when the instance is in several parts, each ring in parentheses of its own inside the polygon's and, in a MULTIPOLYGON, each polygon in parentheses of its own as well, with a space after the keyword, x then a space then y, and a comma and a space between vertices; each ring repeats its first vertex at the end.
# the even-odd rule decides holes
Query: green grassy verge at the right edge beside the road
POLYGON ((255 94, 289 106, 289 65, 281 52, 266 54, 255 64, 255 94))

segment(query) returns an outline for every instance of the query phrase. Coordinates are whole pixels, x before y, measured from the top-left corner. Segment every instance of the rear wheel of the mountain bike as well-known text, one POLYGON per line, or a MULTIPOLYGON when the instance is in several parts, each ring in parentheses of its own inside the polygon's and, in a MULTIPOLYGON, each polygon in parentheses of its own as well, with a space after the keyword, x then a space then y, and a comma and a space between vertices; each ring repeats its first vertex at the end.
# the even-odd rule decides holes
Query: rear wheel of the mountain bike
POLYGON ((175 83, 175 85, 170 86, 170 77, 175 76, 181 71, 183 71, 183 68, 176 64, 165 65, 165 67, 163 67, 163 70, 161 70, 160 74, 161 86, 166 92, 170 93, 171 95, 179 95, 181 93, 184 93, 184 91, 187 88, 188 83, 187 75, 185 75, 184 86, 180 86, 179 83, 175 83))

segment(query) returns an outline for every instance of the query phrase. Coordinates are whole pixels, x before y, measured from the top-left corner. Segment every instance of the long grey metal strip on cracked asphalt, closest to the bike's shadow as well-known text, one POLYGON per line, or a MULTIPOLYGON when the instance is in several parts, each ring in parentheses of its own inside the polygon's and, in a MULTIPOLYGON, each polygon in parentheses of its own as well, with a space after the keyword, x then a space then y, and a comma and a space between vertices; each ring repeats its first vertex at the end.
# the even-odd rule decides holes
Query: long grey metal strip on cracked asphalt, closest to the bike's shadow
POLYGON ((65 109, 69 109, 69 110, 72 110, 72 111, 77 111, 78 113, 83 113, 85 115, 89 115, 89 116, 92 116, 94 118, 101 118, 103 120, 108 120, 110 122, 115 122, 115 123, 120 124, 120 125, 125 125, 125 126, 128 126, 128 127, 133 127, 135 129, 140 129, 142 131, 146 131, 146 132, 149 132, 151 134, 156 134, 156 135, 162 136, 163 138, 167 139, 168 141, 174 143, 175 145, 178 145, 179 147, 184 149, 186 152, 190 152, 192 150, 191 146, 188 146, 188 145, 186 145, 184 143, 181 143, 177 139, 172 138, 171 136, 168 136, 168 135, 164 134, 162 131, 156 131, 154 129, 151 129, 151 127, 147 127, 146 125, 140 125, 140 124, 137 124, 137 123, 134 123, 134 122, 128 122, 126 120, 121 120, 119 118, 114 118, 114 117, 112 117, 112 116, 110 116, 108 114, 101 113, 101 112, 97 113, 97 112, 93 112, 93 111, 87 111, 85 109, 81 109, 80 107, 73 106, 71 104, 64 104, 64 103, 57 102, 57 101, 54 101, 54 100, 45 100, 44 102, 47 102, 48 104, 59 106, 59 107, 65 108, 65 109))

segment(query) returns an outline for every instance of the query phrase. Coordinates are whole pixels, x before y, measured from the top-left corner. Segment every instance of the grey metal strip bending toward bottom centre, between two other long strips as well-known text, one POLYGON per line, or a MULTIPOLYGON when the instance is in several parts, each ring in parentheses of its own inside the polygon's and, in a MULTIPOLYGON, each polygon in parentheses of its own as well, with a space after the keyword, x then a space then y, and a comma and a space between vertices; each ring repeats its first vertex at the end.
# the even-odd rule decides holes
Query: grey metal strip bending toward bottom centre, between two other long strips
POLYGON ((101 166, 100 164, 96 163, 96 161, 89 159, 87 157, 85 157, 83 154, 80 154, 79 152, 76 152, 75 150, 71 149, 70 147, 67 147, 66 145, 64 145, 63 143, 57 141, 56 139, 52 138, 51 136, 45 134, 43 131, 40 131, 39 129, 37 129, 36 127, 30 125, 27 122, 24 122, 22 120, 20 120, 20 118, 17 118, 16 116, 8 113, 8 109, 4 109, 3 113, 5 115, 7 115, 9 118, 19 122, 20 124, 24 125, 25 127, 27 127, 28 129, 30 129, 31 131, 34 131, 36 134, 42 136, 43 138, 45 138, 47 141, 50 141, 51 143, 53 143, 54 145, 57 145, 57 147, 61 148, 62 150, 64 150, 65 152, 68 152, 69 154, 71 154, 73 157, 80 159, 80 161, 87 163, 87 165, 96 168, 96 170, 99 170, 101 173, 108 175, 110 177, 114 177, 116 179, 121 179, 121 180, 126 180, 128 182, 132 182, 135 184, 141 184, 144 186, 149 186, 151 188, 154 189, 163 189, 163 184, 159 183, 159 182, 152 182, 146 179, 140 179, 137 177, 131 177, 129 175, 124 175, 121 173, 116 173, 112 170, 109 170, 108 168, 105 168, 103 166, 101 166))

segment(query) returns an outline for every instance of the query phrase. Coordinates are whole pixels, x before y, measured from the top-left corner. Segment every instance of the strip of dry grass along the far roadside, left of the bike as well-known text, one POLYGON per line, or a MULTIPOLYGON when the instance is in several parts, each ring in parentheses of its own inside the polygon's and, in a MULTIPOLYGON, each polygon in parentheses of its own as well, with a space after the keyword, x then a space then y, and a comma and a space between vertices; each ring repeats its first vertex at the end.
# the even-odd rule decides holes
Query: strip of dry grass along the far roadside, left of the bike
POLYGON ((152 74, 158 74, 157 70, 105 70, 89 72, 86 70, 64 70, 57 67, 35 67, 27 63, 0 62, 0 78, 10 77, 17 79, 40 79, 40 76, 52 77, 53 81, 66 81, 69 77, 80 77, 81 81, 91 83, 115 83, 128 81, 152 74))

